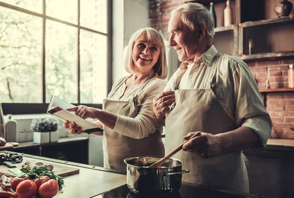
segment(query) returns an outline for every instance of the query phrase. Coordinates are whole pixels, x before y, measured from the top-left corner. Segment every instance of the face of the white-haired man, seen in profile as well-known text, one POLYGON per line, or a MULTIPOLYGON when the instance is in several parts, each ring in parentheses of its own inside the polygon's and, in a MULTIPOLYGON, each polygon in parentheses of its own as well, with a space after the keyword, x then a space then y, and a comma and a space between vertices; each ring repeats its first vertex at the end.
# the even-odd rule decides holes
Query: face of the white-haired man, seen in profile
POLYGON ((172 15, 168 33, 170 34, 169 45, 176 50, 179 61, 194 61, 197 51, 198 34, 182 22, 179 13, 172 15))

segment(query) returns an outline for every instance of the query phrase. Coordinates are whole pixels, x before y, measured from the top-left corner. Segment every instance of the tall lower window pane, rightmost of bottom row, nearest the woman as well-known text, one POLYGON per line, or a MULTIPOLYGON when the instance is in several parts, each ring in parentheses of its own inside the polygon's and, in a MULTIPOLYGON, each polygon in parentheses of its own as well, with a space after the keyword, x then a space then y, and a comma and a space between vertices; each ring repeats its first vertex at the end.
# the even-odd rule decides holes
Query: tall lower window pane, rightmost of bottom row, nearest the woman
POLYGON ((80 100, 102 103, 107 96, 107 37, 80 30, 80 100))

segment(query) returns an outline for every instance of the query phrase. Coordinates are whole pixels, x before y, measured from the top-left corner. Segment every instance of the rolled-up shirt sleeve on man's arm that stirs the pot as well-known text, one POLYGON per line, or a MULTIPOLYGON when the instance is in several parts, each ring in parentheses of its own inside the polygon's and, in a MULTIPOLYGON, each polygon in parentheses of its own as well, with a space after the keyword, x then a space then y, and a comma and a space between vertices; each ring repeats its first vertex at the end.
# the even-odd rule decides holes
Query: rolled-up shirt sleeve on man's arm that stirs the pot
POLYGON ((254 130, 259 137, 260 146, 265 147, 270 137, 272 123, 255 79, 245 63, 238 63, 233 72, 233 82, 236 124, 238 127, 247 126, 254 130))

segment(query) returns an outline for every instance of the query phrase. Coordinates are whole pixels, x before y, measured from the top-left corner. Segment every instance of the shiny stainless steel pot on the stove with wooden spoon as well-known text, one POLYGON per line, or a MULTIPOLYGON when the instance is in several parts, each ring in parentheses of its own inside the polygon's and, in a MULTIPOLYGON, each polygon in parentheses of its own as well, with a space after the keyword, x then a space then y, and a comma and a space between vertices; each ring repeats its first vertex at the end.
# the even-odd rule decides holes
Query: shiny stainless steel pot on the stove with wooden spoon
POLYGON ((165 194, 178 191, 181 187, 183 162, 168 159, 160 168, 148 168, 162 157, 145 156, 124 159, 126 163, 126 184, 132 192, 165 194))

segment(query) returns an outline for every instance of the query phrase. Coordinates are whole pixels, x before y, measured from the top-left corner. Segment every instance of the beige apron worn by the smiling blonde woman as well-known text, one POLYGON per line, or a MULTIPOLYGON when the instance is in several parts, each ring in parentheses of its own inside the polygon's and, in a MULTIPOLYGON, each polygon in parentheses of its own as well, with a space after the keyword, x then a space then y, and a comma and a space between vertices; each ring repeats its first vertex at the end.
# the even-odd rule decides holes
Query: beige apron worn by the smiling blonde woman
MULTIPOLYGON (((142 83, 133 99, 130 101, 114 101, 104 99, 103 110, 135 118, 138 114, 139 106, 135 106, 134 98, 144 88, 150 80, 148 76, 142 83)), ((125 82, 119 84, 114 92, 125 82)), ((136 133, 136 131, 134 131, 136 133)), ((158 130, 149 134, 143 139, 134 139, 124 136, 105 126, 103 132, 103 157, 104 168, 110 168, 119 171, 126 171, 126 164, 123 162, 128 157, 138 156, 164 156, 164 146, 161 140, 161 134, 158 130)))

